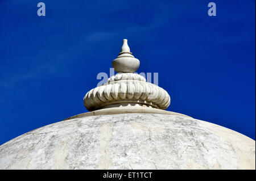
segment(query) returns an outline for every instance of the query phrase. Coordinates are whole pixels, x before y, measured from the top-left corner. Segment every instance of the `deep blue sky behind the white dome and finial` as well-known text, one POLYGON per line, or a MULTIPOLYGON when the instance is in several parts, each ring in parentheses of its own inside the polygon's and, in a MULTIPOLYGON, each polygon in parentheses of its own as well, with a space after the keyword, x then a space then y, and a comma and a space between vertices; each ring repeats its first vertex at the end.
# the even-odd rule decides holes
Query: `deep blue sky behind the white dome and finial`
POLYGON ((0 144, 87 112, 122 39, 168 111, 255 140, 255 1, 0 1, 0 144), (215 2, 217 16, 208 16, 215 2))

